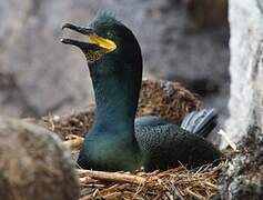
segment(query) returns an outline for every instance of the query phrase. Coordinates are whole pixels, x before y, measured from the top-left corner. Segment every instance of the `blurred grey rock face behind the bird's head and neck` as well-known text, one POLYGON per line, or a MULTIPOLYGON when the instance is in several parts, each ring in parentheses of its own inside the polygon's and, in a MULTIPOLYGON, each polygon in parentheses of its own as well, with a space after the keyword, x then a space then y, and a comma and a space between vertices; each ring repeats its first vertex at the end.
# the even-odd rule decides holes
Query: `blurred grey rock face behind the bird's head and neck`
POLYGON ((42 116, 87 106, 92 92, 84 57, 60 43, 60 27, 84 26, 99 10, 115 12, 133 30, 145 76, 182 82, 194 92, 209 91, 213 94, 205 102, 225 113, 225 34, 185 34, 186 9, 169 0, 0 1, 0 72, 11 74, 17 86, 0 91, 0 113, 42 116))

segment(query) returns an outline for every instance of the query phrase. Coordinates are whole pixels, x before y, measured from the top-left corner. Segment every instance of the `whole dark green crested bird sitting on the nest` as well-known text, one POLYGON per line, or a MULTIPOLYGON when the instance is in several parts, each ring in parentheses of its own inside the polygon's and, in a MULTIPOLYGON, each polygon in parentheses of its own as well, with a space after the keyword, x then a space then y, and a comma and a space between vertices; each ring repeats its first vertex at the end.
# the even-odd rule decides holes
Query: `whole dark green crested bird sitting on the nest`
POLYGON ((134 123, 142 54, 129 28, 108 13, 100 13, 89 27, 65 23, 64 28, 89 38, 61 40, 85 54, 95 94, 94 123, 78 158, 81 168, 118 171, 144 167, 151 171, 175 167, 179 161, 199 167, 220 158, 220 151, 199 136, 214 128, 214 110, 184 120, 185 129, 195 131, 192 133, 158 117, 134 123))

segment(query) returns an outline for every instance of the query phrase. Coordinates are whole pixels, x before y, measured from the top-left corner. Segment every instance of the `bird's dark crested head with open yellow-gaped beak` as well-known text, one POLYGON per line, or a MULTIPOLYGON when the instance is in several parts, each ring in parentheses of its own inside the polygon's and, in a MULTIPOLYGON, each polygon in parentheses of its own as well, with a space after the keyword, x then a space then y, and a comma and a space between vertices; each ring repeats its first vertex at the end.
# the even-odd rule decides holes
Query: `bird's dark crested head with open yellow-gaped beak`
POLYGON ((63 38, 61 41, 80 48, 91 71, 95 70, 100 76, 120 74, 123 70, 129 71, 130 67, 131 70, 141 73, 142 56, 135 37, 111 14, 100 13, 88 27, 65 23, 62 29, 65 28, 88 38, 87 40, 63 38))

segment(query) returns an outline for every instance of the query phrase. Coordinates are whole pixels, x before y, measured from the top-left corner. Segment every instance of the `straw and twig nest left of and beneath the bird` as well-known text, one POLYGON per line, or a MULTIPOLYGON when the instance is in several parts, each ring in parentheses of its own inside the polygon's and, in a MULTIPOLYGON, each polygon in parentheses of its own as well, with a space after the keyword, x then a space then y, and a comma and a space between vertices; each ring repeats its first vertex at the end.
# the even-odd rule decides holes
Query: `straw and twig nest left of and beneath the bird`
MULTIPOLYGON (((48 116, 34 122, 57 132, 71 147, 72 156, 79 152, 83 142, 85 112, 65 117, 48 116), (77 134, 72 134, 77 133, 77 134)), ((218 177, 222 166, 203 166, 189 170, 184 166, 146 173, 105 172, 78 170, 81 184, 81 200, 88 199, 210 199, 218 190, 218 177)))

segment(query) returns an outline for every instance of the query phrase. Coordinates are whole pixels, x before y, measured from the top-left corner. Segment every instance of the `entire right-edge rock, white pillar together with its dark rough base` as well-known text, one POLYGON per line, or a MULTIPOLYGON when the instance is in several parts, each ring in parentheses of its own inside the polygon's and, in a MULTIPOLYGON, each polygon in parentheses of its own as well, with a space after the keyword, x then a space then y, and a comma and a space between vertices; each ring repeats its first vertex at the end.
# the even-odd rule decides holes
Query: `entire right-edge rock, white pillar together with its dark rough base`
MULTIPOLYGON (((236 151, 226 158, 215 199, 263 197, 263 1, 230 0, 231 98, 226 137, 236 151)), ((227 142, 222 142, 224 148, 227 142)))

